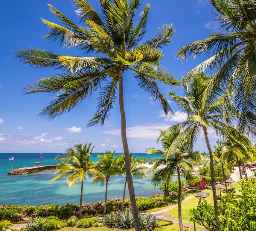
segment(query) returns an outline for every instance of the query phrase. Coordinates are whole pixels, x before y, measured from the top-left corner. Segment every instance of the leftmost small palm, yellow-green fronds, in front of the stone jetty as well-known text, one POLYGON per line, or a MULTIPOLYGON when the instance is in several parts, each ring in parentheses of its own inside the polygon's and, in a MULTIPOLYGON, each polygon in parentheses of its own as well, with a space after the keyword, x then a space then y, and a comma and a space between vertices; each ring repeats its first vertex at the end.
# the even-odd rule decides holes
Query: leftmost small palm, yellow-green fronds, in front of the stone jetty
POLYGON ((81 181, 81 194, 80 194, 80 212, 79 217, 82 217, 82 196, 84 181, 86 175, 96 177, 104 177, 104 175, 95 170, 94 163, 90 162, 91 152, 94 146, 91 144, 76 144, 73 148, 66 151, 68 157, 58 155, 55 159, 58 162, 59 168, 53 174, 59 174, 52 178, 49 182, 58 180, 62 177, 67 177, 67 184, 70 187, 76 186, 81 181), (70 164, 67 164, 70 163, 70 164))

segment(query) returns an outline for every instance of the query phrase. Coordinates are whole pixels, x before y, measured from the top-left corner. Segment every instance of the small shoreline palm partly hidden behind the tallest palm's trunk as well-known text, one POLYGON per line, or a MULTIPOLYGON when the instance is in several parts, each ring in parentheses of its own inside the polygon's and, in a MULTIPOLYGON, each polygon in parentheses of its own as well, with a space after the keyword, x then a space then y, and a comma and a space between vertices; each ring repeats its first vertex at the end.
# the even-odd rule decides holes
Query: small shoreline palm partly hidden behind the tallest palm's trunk
MULTIPOLYGON (((130 153, 130 166, 131 166, 131 174, 136 179, 140 178, 146 178, 147 175, 145 173, 146 167, 140 166, 140 163, 145 161, 145 156, 142 159, 136 159, 136 156, 132 156, 132 153, 130 153)), ((123 203, 125 201, 125 190, 126 190, 126 184, 127 184, 127 177, 126 177, 126 171, 125 171, 125 156, 121 156, 121 172, 123 175, 125 175, 125 186, 123 188, 123 200, 121 205, 121 210, 123 211, 123 203)))

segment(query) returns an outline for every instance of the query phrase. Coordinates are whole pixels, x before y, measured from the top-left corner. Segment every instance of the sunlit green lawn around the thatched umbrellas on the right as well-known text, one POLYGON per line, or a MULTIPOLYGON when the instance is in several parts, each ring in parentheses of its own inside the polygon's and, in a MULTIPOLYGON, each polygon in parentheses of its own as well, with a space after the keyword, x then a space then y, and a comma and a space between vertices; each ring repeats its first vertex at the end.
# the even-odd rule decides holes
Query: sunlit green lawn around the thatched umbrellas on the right
MULTIPOLYGON (((232 187, 235 187, 235 189, 236 189, 236 192, 235 192, 236 198, 237 199, 241 198, 242 193, 239 191, 239 189, 241 190, 241 185, 238 184, 238 183, 235 183, 235 184, 232 184, 232 187)), ((204 190, 204 192, 210 193, 210 195, 205 200, 207 201, 207 203, 213 204, 212 190, 211 189, 210 190, 204 190)), ((222 193, 222 195, 225 195, 225 193, 222 193)), ((197 208, 198 201, 199 200, 198 200, 197 197, 193 197, 193 198, 190 198, 189 200, 187 200, 186 202, 181 204, 182 221, 184 223, 194 225, 193 222, 189 221, 189 219, 190 219, 189 211, 192 208, 197 208)), ((172 217, 174 217, 175 219, 178 220, 178 206, 168 210, 167 213, 170 216, 172 216, 172 217)), ((203 226, 200 226, 200 225, 197 225, 197 226, 198 227, 203 227, 203 226)))

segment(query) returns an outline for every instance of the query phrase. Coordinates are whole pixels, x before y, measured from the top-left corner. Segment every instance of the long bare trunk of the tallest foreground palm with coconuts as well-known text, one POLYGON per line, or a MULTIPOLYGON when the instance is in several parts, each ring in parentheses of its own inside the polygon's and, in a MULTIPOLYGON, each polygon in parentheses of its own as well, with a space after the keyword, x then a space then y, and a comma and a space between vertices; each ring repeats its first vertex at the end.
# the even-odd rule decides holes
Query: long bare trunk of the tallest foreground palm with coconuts
POLYGON ((134 193, 134 187, 133 187, 133 178, 131 175, 130 152, 129 152, 128 142, 126 137, 126 119, 125 119, 125 109, 123 104, 123 71, 122 70, 118 70, 118 77, 119 77, 119 106, 120 106, 120 114, 121 114, 121 137, 122 137, 122 143, 123 143, 123 152, 125 154, 125 171, 126 171, 126 178, 127 178, 130 201, 131 201, 131 210, 133 213, 134 228, 136 231, 140 231, 139 214, 137 211, 137 205, 136 205, 135 193, 134 193))

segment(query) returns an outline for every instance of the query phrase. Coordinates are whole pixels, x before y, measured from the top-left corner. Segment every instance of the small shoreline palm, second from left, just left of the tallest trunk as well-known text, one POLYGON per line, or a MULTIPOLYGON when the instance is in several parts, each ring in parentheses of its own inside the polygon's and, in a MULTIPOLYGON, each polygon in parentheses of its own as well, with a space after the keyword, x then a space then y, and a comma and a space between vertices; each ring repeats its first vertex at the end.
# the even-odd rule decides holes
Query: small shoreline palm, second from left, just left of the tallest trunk
POLYGON ((115 151, 106 151, 104 155, 98 155, 99 162, 96 165, 96 170, 101 172, 102 176, 96 176, 93 179, 93 183, 102 182, 102 184, 106 183, 106 191, 105 191, 105 204, 103 210, 103 216, 105 216, 107 211, 107 195, 108 195, 108 182, 110 177, 115 175, 121 175, 121 171, 119 168, 120 165, 120 155, 114 157, 115 151))

